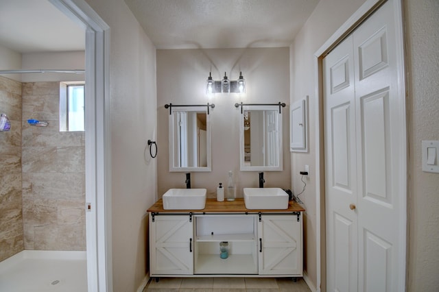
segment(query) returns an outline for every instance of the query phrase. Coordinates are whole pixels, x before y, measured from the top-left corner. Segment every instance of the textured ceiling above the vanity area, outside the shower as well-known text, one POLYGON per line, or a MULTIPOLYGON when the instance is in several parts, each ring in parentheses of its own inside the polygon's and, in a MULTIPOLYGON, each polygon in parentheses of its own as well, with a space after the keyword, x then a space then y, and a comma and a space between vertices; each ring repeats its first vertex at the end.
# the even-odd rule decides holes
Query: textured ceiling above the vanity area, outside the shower
POLYGON ((285 47, 318 0, 125 0, 158 49, 285 47))

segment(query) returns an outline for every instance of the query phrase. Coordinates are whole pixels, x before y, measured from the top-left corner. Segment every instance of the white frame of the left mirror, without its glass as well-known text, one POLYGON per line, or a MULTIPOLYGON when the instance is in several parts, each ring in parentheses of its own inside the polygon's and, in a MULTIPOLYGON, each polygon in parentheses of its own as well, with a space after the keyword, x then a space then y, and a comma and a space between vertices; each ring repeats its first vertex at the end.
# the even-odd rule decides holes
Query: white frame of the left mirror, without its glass
POLYGON ((189 172, 189 171, 212 171, 212 130, 211 112, 208 114, 206 106, 172 106, 169 114, 169 171, 170 172, 189 172), (176 167, 174 164, 174 112, 206 112, 206 167, 176 167))

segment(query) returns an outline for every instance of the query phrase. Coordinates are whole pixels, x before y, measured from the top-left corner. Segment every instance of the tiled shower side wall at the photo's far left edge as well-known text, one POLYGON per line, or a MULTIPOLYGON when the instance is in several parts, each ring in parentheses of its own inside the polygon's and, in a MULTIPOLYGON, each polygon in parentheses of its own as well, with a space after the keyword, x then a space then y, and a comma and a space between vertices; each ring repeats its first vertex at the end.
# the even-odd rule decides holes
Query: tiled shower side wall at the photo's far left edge
POLYGON ((21 205, 21 83, 0 76, 0 113, 9 132, 0 132, 0 261, 23 250, 21 205))

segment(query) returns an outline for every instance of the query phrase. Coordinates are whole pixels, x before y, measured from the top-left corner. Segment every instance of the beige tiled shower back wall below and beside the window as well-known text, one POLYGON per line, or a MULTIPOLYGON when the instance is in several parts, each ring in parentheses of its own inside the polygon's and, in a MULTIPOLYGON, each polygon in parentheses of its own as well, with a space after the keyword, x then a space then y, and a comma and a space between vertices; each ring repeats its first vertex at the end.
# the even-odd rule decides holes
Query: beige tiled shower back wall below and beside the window
POLYGON ((25 250, 85 250, 85 133, 59 131, 59 82, 22 88, 25 250))

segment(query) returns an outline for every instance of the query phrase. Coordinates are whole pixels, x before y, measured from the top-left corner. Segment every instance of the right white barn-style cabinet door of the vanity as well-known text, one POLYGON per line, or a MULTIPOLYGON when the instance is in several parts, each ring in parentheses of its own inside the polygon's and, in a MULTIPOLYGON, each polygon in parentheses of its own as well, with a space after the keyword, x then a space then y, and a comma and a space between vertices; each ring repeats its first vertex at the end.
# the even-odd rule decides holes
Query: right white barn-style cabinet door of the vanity
POLYGON ((259 275, 302 276, 302 216, 261 215, 259 275))

